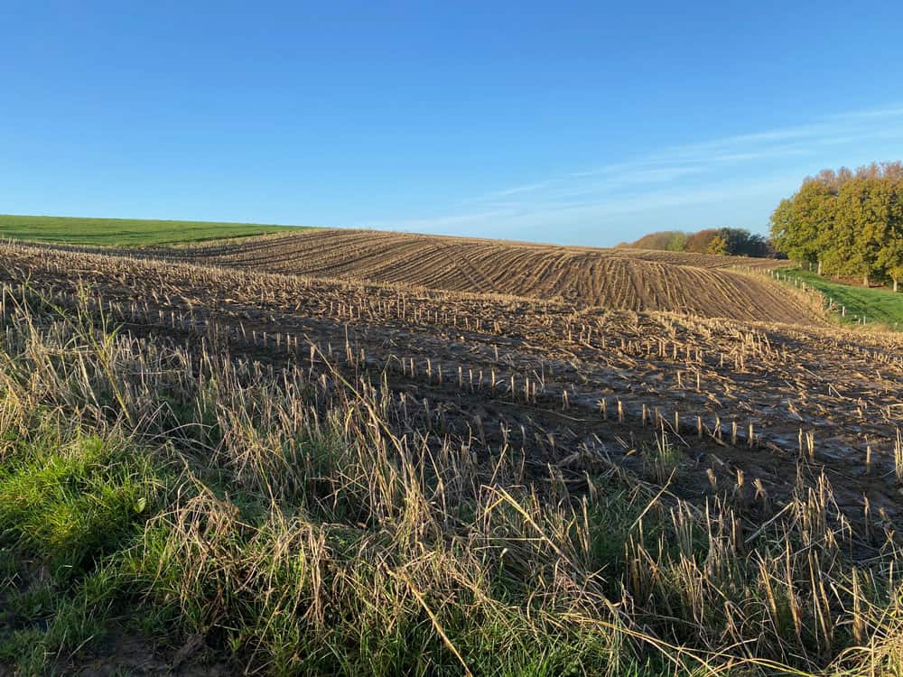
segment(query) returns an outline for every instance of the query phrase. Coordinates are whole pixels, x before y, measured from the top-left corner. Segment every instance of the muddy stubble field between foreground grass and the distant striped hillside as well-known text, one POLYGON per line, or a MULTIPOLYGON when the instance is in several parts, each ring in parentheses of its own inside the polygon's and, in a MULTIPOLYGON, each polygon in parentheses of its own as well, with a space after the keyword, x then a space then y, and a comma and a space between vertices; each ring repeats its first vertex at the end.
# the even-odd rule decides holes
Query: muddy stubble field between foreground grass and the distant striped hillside
POLYGON ((684 458, 672 487, 684 497, 710 495, 711 469, 720 491, 736 491, 743 473, 750 509, 765 501, 757 479, 777 506, 797 473, 824 472, 851 518, 868 497, 872 516, 903 526, 895 335, 28 247, 8 247, 0 264, 5 283, 31 279, 61 299, 84 285, 139 335, 228 346, 275 366, 323 369, 327 356, 352 380, 385 382, 402 431, 442 431, 484 454, 508 444, 539 468, 578 477, 610 462, 640 471, 638 449, 664 429, 684 458))

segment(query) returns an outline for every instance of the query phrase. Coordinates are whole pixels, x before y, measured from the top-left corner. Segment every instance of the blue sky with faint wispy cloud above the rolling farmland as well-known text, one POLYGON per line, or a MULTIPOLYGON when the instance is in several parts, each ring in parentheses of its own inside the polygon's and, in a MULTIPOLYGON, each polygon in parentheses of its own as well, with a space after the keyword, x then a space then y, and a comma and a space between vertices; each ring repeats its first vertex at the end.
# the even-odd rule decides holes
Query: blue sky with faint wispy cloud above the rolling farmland
POLYGON ((613 245, 903 159, 899 3, 0 0, 0 212, 613 245))

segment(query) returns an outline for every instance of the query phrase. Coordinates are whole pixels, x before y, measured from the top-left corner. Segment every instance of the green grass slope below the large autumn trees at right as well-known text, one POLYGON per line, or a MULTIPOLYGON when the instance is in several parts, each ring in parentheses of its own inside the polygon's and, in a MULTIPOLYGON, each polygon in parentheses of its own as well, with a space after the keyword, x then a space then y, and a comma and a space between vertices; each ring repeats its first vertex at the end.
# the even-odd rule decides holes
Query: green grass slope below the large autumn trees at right
POLYGON ((833 301, 833 316, 842 324, 861 324, 864 318, 866 324, 882 324, 889 329, 903 330, 903 293, 855 287, 800 268, 783 268, 780 276, 782 280, 806 283, 822 292, 833 301))

